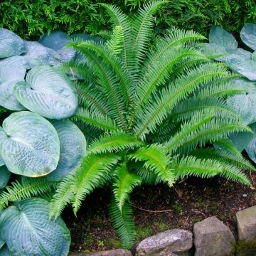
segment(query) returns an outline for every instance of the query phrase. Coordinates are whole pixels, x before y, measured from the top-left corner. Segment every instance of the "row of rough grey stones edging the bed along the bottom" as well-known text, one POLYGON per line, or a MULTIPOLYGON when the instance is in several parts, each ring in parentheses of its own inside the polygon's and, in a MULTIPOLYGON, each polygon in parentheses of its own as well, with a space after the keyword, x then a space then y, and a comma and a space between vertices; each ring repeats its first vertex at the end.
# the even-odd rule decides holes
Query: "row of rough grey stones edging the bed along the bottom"
MULTIPOLYGON (((256 251, 256 206, 240 210, 235 216, 238 240, 245 242, 245 245, 246 242, 255 242, 256 251)), ((230 228, 218 218, 209 217, 194 225, 193 234, 189 230, 176 228, 142 240, 135 256, 229 256, 234 255, 234 247, 235 238, 230 228)), ((251 255, 242 253, 245 256, 251 255)), ((132 252, 117 249, 90 253, 70 252, 68 256, 132 256, 132 252)))

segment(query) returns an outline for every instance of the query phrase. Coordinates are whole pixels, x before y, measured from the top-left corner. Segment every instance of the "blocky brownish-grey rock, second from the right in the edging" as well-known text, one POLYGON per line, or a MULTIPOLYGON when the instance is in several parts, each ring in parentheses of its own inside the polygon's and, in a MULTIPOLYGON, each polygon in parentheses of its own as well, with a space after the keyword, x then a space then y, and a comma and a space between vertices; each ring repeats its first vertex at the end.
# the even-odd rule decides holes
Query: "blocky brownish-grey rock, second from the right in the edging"
POLYGON ((231 230, 218 218, 210 217, 193 227, 195 256, 231 255, 235 238, 231 230))

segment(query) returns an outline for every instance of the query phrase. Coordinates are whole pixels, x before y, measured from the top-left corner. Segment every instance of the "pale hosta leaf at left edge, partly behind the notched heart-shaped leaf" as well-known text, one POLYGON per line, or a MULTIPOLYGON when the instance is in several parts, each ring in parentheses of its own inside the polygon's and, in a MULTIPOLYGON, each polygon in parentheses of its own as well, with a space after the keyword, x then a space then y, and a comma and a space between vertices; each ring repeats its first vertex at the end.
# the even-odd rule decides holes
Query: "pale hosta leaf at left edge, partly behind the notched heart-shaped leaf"
POLYGON ((26 108, 14 96, 16 82, 23 81, 26 74, 26 58, 14 56, 0 60, 0 106, 9 110, 26 108))

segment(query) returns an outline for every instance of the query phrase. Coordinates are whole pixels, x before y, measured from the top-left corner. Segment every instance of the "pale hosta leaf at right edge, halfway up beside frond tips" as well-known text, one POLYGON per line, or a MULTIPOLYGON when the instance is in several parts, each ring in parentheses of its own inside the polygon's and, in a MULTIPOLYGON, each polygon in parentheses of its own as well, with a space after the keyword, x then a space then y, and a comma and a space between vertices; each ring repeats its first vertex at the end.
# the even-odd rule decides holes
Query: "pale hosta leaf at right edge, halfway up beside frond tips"
POLYGON ((245 78, 235 80, 234 83, 246 91, 228 97, 228 105, 242 116, 246 124, 256 122, 256 83, 245 78))

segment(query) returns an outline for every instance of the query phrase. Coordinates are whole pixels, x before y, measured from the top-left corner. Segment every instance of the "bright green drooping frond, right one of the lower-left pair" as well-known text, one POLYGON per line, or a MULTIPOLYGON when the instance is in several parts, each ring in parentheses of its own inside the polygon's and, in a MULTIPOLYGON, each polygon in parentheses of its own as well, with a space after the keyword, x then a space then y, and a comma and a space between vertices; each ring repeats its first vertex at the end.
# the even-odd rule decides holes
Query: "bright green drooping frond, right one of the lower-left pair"
POLYGON ((102 185, 107 173, 117 164, 119 159, 117 154, 90 154, 82 159, 82 164, 75 170, 73 178, 74 197, 72 204, 75 214, 85 196, 102 185))

